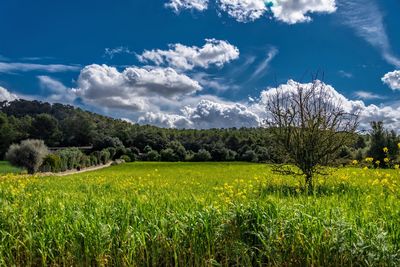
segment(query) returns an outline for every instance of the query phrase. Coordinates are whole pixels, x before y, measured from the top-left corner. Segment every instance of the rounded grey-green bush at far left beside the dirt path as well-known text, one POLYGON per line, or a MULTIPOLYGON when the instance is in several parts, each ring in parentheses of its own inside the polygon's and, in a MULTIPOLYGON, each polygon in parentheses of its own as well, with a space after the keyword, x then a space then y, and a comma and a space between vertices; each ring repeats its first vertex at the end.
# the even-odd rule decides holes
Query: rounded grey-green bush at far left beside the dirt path
POLYGON ((6 159, 15 166, 26 168, 28 173, 38 171, 43 159, 49 154, 42 140, 25 140, 21 144, 13 144, 6 153, 6 159))

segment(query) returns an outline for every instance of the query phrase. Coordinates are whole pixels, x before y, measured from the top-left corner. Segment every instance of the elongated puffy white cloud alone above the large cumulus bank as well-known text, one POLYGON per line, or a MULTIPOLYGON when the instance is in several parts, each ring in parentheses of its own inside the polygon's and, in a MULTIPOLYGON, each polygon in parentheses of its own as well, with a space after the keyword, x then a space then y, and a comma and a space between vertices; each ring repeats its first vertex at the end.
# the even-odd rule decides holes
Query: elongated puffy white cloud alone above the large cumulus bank
POLYGON ((206 39, 203 47, 170 45, 169 50, 144 51, 138 58, 141 62, 153 62, 156 65, 168 65, 180 70, 191 70, 195 67, 222 67, 225 63, 239 57, 239 49, 227 41, 206 39))

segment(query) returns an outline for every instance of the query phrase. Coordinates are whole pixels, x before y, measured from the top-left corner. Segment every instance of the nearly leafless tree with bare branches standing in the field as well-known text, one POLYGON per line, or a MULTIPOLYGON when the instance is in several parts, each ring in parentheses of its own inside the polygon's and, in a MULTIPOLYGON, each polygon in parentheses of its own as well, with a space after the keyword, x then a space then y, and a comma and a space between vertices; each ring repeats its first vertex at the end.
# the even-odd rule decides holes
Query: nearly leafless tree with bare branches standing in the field
POLYGON ((312 191, 313 175, 353 141, 359 112, 345 110, 343 101, 316 79, 310 84, 296 83, 291 90, 272 90, 266 102, 266 124, 277 147, 305 176, 312 191))

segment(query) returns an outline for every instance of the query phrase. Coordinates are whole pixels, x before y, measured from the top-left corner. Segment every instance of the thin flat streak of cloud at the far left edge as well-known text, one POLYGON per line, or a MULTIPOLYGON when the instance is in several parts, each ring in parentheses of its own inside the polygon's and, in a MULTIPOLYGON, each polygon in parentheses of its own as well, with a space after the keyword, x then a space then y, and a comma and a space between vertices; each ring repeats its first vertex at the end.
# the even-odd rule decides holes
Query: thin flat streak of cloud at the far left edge
POLYGON ((61 65, 61 64, 32 64, 32 63, 13 63, 0 62, 0 72, 27 72, 27 71, 44 71, 44 72, 68 72, 79 71, 79 66, 61 65))

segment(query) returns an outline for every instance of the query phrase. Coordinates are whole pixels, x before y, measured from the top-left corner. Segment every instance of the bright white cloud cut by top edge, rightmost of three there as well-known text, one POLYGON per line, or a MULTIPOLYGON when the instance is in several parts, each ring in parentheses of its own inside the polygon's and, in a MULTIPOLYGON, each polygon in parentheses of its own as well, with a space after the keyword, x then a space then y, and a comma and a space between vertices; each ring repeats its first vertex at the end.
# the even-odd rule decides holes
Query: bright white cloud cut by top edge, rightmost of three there
POLYGON ((333 13, 335 0, 272 0, 274 17, 288 24, 311 21, 309 13, 333 13))

